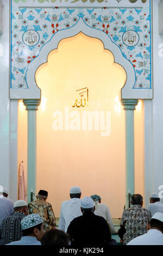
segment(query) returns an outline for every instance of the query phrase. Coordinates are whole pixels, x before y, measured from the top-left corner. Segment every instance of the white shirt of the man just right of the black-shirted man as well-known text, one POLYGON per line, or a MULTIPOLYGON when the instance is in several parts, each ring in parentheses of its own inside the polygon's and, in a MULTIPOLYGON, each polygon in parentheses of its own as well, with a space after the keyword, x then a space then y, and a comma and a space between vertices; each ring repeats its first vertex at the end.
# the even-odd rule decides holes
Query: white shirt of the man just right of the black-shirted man
POLYGON ((111 234, 116 233, 115 227, 112 223, 112 218, 111 218, 109 208, 106 204, 96 203, 96 210, 94 214, 103 217, 107 221, 111 234))

